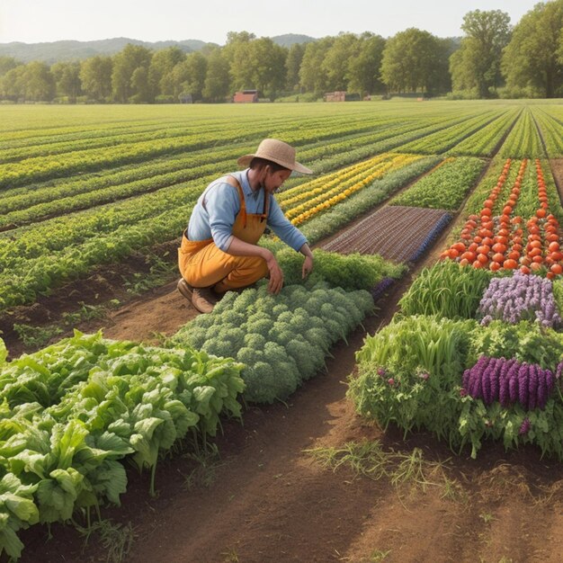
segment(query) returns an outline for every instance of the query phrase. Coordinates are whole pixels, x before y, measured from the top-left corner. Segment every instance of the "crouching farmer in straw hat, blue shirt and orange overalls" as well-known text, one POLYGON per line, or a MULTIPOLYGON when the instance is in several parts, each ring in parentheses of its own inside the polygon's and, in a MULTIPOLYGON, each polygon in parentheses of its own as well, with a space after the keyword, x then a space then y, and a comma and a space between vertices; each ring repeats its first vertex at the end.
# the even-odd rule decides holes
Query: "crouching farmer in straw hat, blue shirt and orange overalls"
POLYGON ((257 244, 266 226, 305 256, 303 278, 313 269, 307 239, 273 198, 291 171, 312 171, 296 162, 293 147, 276 139, 264 139, 254 155, 241 156, 237 163, 248 167, 215 180, 201 194, 178 249, 178 290, 201 313, 210 313, 225 291, 266 276, 270 292, 281 290, 280 265, 272 251, 257 244))

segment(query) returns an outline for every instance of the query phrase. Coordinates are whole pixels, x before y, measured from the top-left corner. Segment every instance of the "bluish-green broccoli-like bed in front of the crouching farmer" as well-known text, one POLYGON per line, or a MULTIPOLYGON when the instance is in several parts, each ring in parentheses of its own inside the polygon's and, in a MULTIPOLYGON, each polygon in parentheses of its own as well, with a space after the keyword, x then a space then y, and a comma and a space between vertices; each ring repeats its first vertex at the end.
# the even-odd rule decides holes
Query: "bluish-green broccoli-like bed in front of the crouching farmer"
POLYGON ((208 353, 236 358, 246 366, 246 400, 273 403, 313 377, 325 365, 330 346, 345 338, 372 308, 373 299, 365 290, 329 289, 319 282, 307 288, 286 285, 273 296, 262 284, 240 294, 228 292, 210 315, 194 318, 172 342, 197 343, 208 353), (226 327, 233 313, 244 314, 244 320, 226 327))

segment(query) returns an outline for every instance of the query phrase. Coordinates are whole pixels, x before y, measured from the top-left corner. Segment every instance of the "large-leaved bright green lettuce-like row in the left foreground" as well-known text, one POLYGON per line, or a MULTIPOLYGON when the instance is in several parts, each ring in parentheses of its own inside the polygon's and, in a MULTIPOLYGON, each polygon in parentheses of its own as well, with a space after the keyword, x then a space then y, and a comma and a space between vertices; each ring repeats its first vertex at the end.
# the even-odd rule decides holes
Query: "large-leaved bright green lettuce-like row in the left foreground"
POLYGON ((80 513, 89 523, 92 508, 119 505, 126 456, 151 471, 154 495, 163 452, 189 431, 205 442, 217 433, 219 415, 241 416, 243 366, 187 346, 78 333, 13 362, 4 359, 0 553, 11 558, 23 548, 17 532, 32 524, 65 523, 80 513))

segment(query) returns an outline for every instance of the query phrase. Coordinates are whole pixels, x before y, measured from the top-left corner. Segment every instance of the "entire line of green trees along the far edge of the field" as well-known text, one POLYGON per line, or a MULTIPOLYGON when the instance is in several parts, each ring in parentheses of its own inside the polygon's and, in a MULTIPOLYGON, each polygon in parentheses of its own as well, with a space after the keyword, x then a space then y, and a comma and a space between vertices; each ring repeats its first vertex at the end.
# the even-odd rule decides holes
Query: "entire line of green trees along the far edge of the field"
POLYGON ((224 102, 326 92, 453 97, 563 96, 563 0, 536 4, 514 27, 499 10, 467 13, 460 41, 409 28, 389 39, 341 33, 289 49, 247 31, 225 46, 184 53, 127 45, 83 61, 22 64, 0 58, 0 98, 12 102, 224 102))

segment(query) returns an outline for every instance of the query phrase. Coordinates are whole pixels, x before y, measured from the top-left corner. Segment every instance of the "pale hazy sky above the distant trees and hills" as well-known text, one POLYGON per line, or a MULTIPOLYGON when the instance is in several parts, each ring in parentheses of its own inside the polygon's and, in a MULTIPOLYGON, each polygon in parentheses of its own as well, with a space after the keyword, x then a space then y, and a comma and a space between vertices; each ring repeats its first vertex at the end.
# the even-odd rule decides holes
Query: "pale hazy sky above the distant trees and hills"
POLYGON ((537 0, 0 0, 0 43, 56 40, 202 40, 224 45, 228 31, 256 37, 341 31, 391 37, 409 27, 461 36, 463 16, 501 10, 516 24, 537 0))

